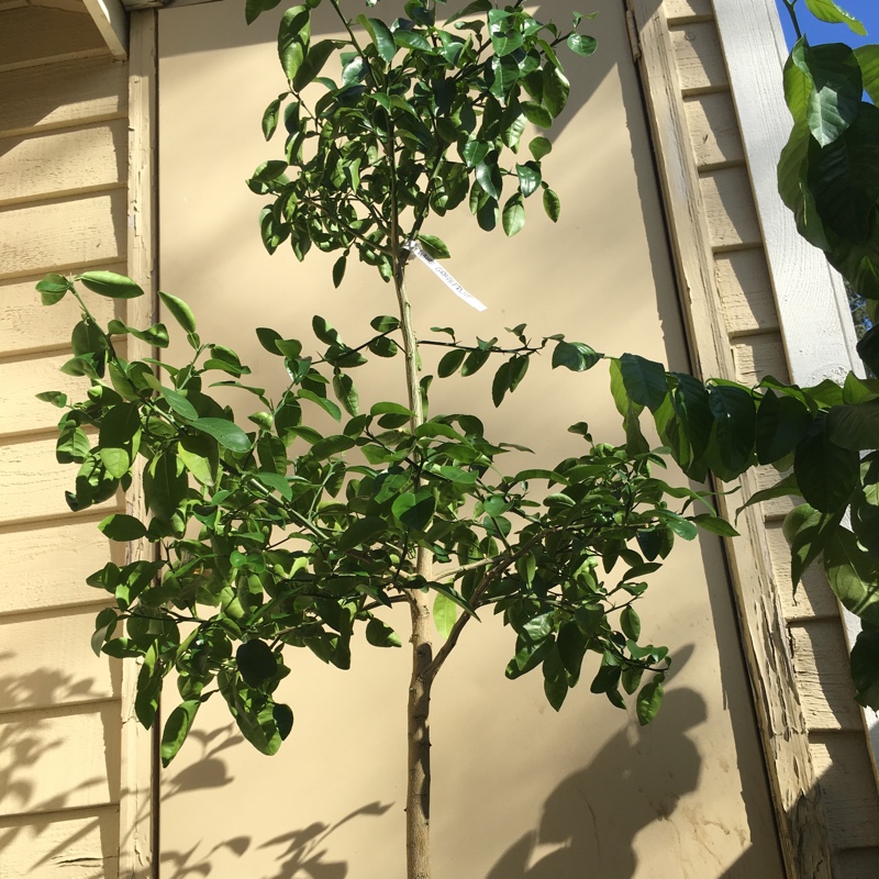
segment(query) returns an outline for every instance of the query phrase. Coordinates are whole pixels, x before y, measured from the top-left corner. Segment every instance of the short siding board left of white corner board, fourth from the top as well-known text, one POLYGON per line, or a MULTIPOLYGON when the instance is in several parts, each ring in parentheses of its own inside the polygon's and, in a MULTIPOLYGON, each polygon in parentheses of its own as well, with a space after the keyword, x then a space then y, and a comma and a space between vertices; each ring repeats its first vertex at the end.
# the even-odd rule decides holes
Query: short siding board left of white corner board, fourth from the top
POLYGON ((701 187, 711 246, 715 251, 763 242, 750 180, 744 167, 704 171, 701 187))

